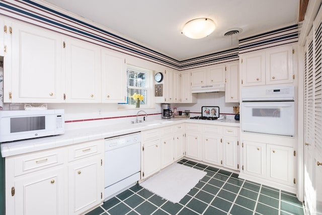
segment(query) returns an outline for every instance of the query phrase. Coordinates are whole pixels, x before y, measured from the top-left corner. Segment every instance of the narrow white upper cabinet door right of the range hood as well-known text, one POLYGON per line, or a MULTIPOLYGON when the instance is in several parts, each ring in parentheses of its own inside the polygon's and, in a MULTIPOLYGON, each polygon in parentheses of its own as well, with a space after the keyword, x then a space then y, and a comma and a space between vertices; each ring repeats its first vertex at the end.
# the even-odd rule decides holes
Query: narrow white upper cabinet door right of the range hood
POLYGON ((238 63, 227 64, 225 101, 239 102, 239 71, 238 63))

